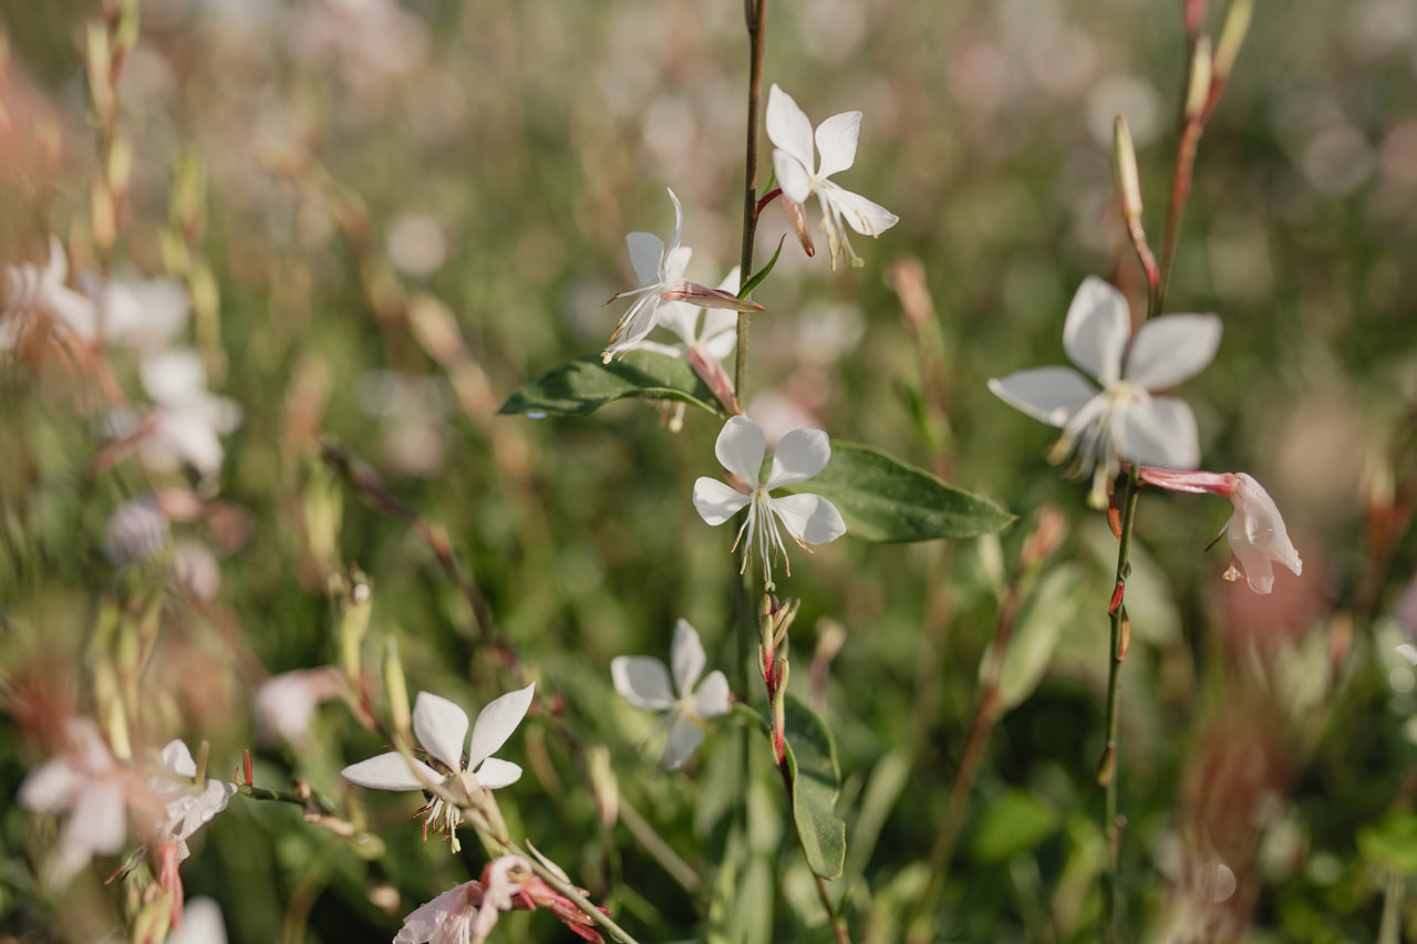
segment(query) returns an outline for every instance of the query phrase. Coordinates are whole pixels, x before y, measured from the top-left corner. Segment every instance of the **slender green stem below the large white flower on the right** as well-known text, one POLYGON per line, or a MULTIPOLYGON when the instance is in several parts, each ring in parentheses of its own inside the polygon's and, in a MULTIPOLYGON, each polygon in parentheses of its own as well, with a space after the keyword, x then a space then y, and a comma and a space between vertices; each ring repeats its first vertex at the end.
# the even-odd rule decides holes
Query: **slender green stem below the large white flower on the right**
POLYGON ((1127 608, 1122 600, 1127 591, 1127 577, 1131 574, 1132 524, 1136 520, 1136 498, 1141 495, 1138 466, 1127 473, 1127 485, 1121 506, 1121 534, 1117 541, 1117 583, 1108 607, 1111 621, 1111 646, 1107 653, 1107 747, 1098 765, 1097 778, 1104 788, 1102 831, 1107 835, 1107 873, 1102 879, 1102 928, 1104 938, 1115 938, 1117 917, 1117 865, 1121 858, 1122 826, 1125 819, 1117 815, 1117 717, 1121 693, 1122 659, 1131 642, 1127 629, 1127 608), (1125 629, 1125 632, 1124 632, 1125 629))

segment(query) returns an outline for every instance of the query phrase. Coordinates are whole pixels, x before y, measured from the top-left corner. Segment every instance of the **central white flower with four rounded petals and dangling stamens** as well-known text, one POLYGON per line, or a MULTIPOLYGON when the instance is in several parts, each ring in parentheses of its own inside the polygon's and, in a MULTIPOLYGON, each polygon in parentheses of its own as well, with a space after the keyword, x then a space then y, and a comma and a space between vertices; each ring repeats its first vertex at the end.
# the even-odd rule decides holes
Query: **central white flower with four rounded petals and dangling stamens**
MULTIPOLYGON (((762 556, 762 577, 771 590, 771 564, 777 561, 779 553, 784 560, 786 558, 779 524, 803 550, 811 551, 808 544, 825 544, 845 534, 846 523, 836 506, 820 495, 801 493, 779 499, 768 495, 772 489, 802 482, 826 468, 832 458, 832 446, 825 432, 794 429, 782 437, 772 456, 768 481, 754 485, 758 482, 767 448, 762 427, 747 417, 730 417, 718 434, 714 455, 734 476, 734 485, 700 478, 694 482, 694 507, 710 524, 723 524, 740 509, 748 509, 748 520, 738 529, 733 549, 737 550, 743 541, 743 567, 747 567, 752 558, 752 544, 757 541, 758 553, 762 556), (747 541, 743 540, 744 534, 747 541)), ((791 564, 786 570, 791 577, 791 564)))

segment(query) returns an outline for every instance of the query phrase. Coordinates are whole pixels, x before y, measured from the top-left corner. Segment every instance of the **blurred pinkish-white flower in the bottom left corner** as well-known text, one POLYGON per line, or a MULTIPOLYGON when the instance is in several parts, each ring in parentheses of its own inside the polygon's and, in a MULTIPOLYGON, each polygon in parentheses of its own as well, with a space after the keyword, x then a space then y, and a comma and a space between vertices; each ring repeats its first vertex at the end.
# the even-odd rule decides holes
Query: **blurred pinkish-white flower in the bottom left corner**
POLYGON ((45 869, 54 886, 67 884, 96 855, 113 855, 128 838, 128 811, 156 822, 162 804, 142 780, 113 760, 98 726, 69 719, 62 754, 51 757, 20 784, 20 805, 38 814, 68 814, 45 869))

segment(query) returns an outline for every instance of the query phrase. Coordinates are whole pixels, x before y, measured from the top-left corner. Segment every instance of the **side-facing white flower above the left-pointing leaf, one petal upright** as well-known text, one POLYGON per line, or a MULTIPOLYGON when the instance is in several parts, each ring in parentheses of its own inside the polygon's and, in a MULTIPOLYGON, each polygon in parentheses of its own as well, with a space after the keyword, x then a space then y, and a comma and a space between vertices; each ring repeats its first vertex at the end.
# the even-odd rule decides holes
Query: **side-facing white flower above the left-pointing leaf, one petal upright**
POLYGON ((755 302, 745 302, 733 292, 710 289, 697 282, 684 281, 684 268, 693 249, 679 245, 684 235, 684 208, 679 204, 674 191, 669 191, 669 198, 674 201, 674 235, 669 247, 653 232, 631 232, 625 237, 629 247, 629 261, 635 266, 639 278, 639 288, 619 292, 611 296, 611 302, 622 298, 633 298, 635 303, 621 318, 611 335, 602 359, 609 363, 615 354, 625 354, 639 346, 645 336, 659 323, 663 306, 660 302, 693 302, 704 308, 726 308, 734 312, 761 312, 762 306, 755 302))

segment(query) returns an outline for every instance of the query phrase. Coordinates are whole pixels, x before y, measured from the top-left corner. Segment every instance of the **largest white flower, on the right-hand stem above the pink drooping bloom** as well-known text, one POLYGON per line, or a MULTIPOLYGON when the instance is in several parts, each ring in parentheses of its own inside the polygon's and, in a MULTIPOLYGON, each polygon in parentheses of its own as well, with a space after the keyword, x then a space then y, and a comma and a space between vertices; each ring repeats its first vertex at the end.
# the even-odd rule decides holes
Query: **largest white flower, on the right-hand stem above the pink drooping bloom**
POLYGON ((1172 469, 1200 463, 1196 415, 1179 397, 1153 397, 1196 376, 1216 356, 1223 327, 1214 315, 1166 315, 1132 335, 1127 298, 1097 276, 1073 296, 1063 325, 1063 349, 1097 377, 1098 391, 1070 367, 1036 367, 990 380, 989 390, 1034 420, 1061 427, 1049 454, 1093 472, 1088 500, 1107 503, 1107 486, 1121 462, 1172 469))

